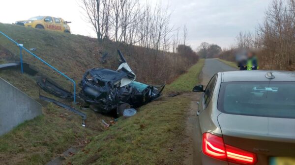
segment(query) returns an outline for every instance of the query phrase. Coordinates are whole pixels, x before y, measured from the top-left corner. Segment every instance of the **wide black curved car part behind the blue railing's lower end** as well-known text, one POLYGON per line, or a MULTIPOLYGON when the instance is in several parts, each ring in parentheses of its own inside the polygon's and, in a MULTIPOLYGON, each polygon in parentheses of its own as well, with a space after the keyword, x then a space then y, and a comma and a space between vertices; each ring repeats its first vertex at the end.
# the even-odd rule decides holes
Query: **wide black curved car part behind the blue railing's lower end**
POLYGON ((74 95, 67 90, 61 88, 56 82, 48 80, 47 78, 40 78, 37 81, 40 88, 49 94, 53 94, 60 98, 73 98, 74 95))

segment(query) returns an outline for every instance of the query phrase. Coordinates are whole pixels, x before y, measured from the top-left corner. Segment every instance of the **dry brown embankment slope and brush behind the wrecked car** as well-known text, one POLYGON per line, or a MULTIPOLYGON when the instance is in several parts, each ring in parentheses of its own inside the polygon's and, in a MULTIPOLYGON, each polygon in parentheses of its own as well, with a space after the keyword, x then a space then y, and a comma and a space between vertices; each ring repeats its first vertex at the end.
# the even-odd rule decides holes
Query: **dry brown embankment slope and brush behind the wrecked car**
MULTIPOLYGON (((118 68, 118 54, 116 44, 106 41, 98 45, 95 38, 81 35, 66 34, 54 31, 45 31, 11 24, 1 24, 2 32, 10 36, 24 47, 37 48, 34 53, 47 61, 52 66, 66 73, 78 84, 85 71, 95 68, 118 68), (101 64, 101 54, 108 52, 107 63, 101 64)), ((11 52, 8 55, 1 53, 0 60, 19 61, 19 48, 9 42, 8 39, 0 37, 0 46, 11 52)), ((119 47, 125 58, 137 74, 137 80, 149 84, 163 84, 172 82, 178 75, 186 71, 197 62, 196 59, 188 59, 186 56, 169 53, 156 52, 143 47, 119 47)), ((2 50, 3 51, 3 50, 2 50)), ((29 63, 41 73, 56 79, 64 88, 72 90, 72 84, 58 73, 24 52, 24 62, 29 63), (63 81, 61 81, 63 80, 63 81)))

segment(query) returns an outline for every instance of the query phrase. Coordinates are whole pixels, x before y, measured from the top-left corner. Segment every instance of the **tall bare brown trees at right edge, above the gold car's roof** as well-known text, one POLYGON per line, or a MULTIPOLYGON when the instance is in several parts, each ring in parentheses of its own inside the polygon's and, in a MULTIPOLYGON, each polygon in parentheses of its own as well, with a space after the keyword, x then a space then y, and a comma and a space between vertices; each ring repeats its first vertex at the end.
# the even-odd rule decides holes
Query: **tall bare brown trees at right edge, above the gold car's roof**
MULTIPOLYGON (((263 54, 274 54, 276 69, 295 69, 294 9, 294 0, 273 0, 266 11, 264 24, 258 29, 258 46, 263 54)), ((269 56, 262 58, 263 61, 272 59, 269 56)))

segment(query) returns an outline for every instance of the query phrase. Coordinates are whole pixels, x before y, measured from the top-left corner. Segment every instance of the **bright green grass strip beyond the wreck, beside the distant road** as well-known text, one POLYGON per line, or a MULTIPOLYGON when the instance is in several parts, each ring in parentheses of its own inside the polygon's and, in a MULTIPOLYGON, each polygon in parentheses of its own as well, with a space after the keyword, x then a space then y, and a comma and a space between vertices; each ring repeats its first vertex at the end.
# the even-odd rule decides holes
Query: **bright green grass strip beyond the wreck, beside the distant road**
POLYGON ((165 87, 165 92, 190 92, 196 85, 198 76, 204 67, 204 59, 200 59, 197 65, 192 66, 185 74, 180 75, 172 84, 165 87))

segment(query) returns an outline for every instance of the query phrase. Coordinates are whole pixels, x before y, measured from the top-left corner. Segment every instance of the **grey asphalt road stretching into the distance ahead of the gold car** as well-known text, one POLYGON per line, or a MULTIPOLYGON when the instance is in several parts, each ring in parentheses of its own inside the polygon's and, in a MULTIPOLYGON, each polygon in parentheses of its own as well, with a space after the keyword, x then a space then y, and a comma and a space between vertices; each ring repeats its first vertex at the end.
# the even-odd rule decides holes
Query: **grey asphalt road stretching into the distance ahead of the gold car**
POLYGON ((203 85, 206 86, 211 77, 218 72, 236 70, 236 68, 230 67, 217 59, 205 59, 205 65, 201 74, 203 85))

